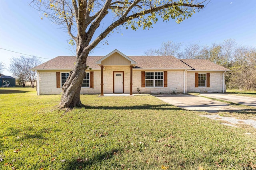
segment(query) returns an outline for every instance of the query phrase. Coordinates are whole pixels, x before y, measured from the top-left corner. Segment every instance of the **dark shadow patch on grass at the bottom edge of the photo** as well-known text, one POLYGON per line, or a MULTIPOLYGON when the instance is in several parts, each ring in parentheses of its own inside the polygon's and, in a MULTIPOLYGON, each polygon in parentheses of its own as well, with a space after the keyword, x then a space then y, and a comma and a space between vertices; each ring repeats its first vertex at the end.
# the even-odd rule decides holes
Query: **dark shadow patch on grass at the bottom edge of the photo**
POLYGON ((120 153, 120 151, 122 152, 122 150, 119 149, 112 149, 108 152, 96 154, 90 159, 83 159, 81 157, 79 159, 75 158, 70 162, 66 162, 66 167, 64 167, 63 170, 93 169, 92 166, 94 164, 99 165, 102 161, 111 159, 116 153, 120 153))

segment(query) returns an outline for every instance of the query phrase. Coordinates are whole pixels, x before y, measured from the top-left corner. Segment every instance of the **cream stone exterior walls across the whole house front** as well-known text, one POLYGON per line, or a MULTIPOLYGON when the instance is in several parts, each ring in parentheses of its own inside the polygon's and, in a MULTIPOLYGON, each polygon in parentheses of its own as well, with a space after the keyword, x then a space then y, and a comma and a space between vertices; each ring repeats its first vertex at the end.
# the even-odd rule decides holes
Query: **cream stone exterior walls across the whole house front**
MULTIPOLYGON (((94 71, 94 88, 81 88, 81 94, 100 94, 101 75, 100 70, 94 71)), ((105 66, 104 68, 104 94, 113 93, 113 71, 124 72, 124 93, 130 93, 130 66, 105 66)), ((183 93, 184 92, 184 70, 168 70, 167 87, 141 87, 141 72, 164 72, 166 70, 139 70, 133 69, 132 93, 138 93, 139 88, 142 93, 183 93)), ((70 72, 70 70, 61 71, 70 72)), ((56 71, 40 71, 37 82, 38 95, 61 94, 62 89, 56 88, 56 71)), ((206 72, 202 72, 206 73, 206 72)), ((61 74, 60 74, 61 75, 61 74)), ((226 90, 226 87, 225 87, 226 90)), ((222 72, 210 72, 210 88, 195 88, 195 72, 185 71, 185 92, 222 92, 222 72)))

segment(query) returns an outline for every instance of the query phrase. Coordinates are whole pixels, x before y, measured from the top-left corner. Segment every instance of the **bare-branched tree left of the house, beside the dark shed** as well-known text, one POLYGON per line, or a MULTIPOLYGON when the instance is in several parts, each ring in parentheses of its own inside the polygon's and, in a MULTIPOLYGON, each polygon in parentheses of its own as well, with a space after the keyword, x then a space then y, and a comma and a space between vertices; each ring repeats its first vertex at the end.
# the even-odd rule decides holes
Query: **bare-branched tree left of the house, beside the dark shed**
POLYGON ((29 81, 31 87, 34 88, 36 82, 36 72, 30 69, 41 64, 42 61, 36 57, 20 56, 13 57, 9 66, 10 72, 17 79, 20 86, 25 87, 29 81))

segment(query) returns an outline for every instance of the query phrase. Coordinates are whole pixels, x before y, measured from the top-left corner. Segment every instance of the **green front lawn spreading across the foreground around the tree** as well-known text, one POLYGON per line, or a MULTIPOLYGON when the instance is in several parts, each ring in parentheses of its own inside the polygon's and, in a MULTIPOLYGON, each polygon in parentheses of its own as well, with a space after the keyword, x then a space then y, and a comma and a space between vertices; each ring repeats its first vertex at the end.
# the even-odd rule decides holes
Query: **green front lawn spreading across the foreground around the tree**
POLYGON ((86 106, 71 111, 55 109, 59 100, 0 88, 0 169, 256 167, 253 128, 224 126, 153 96, 81 95, 86 106))

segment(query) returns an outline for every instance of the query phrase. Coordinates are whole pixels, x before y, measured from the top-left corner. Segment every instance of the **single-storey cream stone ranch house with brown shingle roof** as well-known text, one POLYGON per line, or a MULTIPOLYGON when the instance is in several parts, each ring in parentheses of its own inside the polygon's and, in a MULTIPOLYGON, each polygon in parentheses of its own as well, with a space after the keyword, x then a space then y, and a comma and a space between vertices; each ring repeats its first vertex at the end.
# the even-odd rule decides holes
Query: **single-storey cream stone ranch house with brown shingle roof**
MULTIPOLYGON (((37 94, 60 94, 74 67, 75 56, 58 56, 31 70, 37 72, 37 94)), ((226 92, 230 71, 203 59, 173 56, 126 56, 114 50, 88 56, 81 94, 226 92)))

